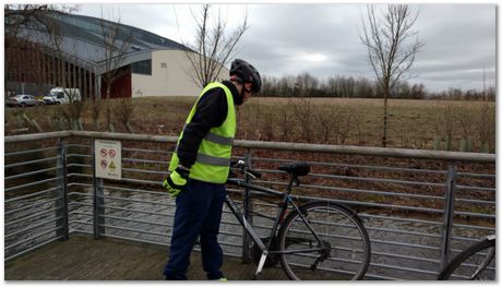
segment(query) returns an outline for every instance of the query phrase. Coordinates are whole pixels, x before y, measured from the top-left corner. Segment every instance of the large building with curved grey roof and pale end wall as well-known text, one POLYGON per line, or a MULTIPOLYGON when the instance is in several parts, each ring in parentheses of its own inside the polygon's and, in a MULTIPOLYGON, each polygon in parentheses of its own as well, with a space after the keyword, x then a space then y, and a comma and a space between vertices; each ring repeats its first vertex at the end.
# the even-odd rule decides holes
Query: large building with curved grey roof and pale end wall
MULTIPOLYGON (((199 95, 183 45, 101 19, 48 14, 56 33, 24 27, 12 37, 5 25, 8 89, 79 87, 84 98, 199 95)), ((218 79, 227 75, 223 67, 218 79)))

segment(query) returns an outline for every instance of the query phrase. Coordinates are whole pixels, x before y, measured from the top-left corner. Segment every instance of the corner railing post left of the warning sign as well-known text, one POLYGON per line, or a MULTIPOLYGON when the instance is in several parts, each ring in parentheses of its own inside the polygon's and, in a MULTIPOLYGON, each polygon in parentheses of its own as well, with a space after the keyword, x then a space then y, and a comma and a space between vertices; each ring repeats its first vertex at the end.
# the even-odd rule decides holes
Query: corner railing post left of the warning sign
POLYGON ((67 145, 64 143, 64 139, 59 139, 57 145, 57 178, 58 178, 58 187, 60 188, 60 206, 56 211, 56 217, 61 217, 58 220, 58 226, 61 226, 61 229, 58 229, 58 237, 61 237, 61 240, 68 240, 70 234, 70 226, 69 226, 69 212, 68 212, 68 179, 67 179, 67 145))

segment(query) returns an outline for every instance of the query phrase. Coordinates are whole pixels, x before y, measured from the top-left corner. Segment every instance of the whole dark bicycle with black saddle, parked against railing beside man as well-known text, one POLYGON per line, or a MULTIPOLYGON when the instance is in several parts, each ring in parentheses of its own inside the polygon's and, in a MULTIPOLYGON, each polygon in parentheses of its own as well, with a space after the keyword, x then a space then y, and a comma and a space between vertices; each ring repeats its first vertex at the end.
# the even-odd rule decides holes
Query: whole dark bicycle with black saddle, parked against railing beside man
MULTIPOLYGON (((368 232, 357 213, 348 206, 327 201, 312 201, 298 206, 290 195, 292 184, 299 186, 298 178, 307 176, 310 166, 299 162, 282 165, 278 169, 289 175, 285 192, 237 177, 229 177, 227 181, 280 199, 268 240, 262 240, 227 194, 226 204, 254 242, 253 249, 261 252, 253 279, 258 279, 264 266, 275 265, 278 260, 290 279, 361 279, 369 266, 371 248, 368 232), (288 206, 291 206, 290 212, 288 206), (268 264, 265 264, 267 261, 268 264)), ((234 175, 247 175, 248 179, 261 177, 243 160, 234 164, 231 170, 234 175)))

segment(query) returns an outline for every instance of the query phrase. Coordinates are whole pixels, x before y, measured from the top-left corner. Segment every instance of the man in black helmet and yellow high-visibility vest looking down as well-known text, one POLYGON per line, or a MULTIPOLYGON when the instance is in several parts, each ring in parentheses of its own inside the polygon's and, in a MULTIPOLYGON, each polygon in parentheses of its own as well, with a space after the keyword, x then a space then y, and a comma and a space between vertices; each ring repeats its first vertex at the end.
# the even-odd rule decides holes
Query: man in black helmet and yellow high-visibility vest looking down
POLYGON ((169 165, 171 174, 163 182, 176 196, 169 260, 164 268, 166 279, 187 279, 198 236, 207 278, 225 279, 217 235, 237 128, 235 105, 242 105, 261 86, 256 69, 236 59, 230 81, 205 86, 190 111, 169 165))

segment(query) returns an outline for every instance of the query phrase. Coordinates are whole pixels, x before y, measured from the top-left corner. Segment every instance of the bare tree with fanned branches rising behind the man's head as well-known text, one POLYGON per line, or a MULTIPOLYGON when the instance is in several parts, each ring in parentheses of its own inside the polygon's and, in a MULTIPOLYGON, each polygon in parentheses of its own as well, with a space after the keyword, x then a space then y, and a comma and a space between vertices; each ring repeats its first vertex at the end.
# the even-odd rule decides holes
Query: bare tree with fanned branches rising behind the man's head
POLYGON ((234 50, 248 29, 248 15, 235 31, 227 31, 227 22, 219 14, 211 26, 211 5, 204 4, 199 15, 192 13, 196 22, 196 34, 193 44, 183 43, 190 69, 186 72, 201 88, 215 81, 223 67, 234 57, 234 50))

